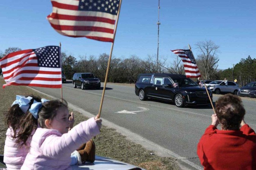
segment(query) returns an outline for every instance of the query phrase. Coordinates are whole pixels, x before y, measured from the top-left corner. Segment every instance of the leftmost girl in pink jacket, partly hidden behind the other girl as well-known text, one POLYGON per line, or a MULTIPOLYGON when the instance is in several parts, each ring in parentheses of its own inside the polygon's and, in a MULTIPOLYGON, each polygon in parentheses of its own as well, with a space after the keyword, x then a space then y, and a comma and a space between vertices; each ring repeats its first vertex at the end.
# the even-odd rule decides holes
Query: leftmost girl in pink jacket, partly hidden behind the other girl
POLYGON ((9 127, 6 131, 4 158, 8 170, 20 169, 29 151, 31 135, 24 136, 22 140, 17 139, 19 131, 18 122, 22 116, 28 111, 34 100, 40 101, 40 97, 35 96, 16 96, 11 108, 5 114, 5 122, 9 127))

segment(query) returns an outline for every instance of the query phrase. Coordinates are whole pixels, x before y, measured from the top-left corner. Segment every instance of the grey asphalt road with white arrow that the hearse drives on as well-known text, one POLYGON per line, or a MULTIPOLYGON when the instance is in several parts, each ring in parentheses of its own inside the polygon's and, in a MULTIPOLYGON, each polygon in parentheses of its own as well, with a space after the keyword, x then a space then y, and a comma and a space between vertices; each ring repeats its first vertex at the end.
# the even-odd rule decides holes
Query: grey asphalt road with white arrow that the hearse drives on
MULTIPOLYGON (((60 89, 33 88, 60 98, 60 89)), ((99 111, 101 95, 102 88, 82 90, 73 88, 72 83, 63 84, 63 98, 94 115, 99 111)), ((216 99, 214 97, 214 101, 216 99)), ((243 104, 246 109, 245 121, 256 129, 256 102, 243 100, 243 104)), ((196 146, 205 128, 209 126, 212 114, 210 106, 178 108, 167 102, 150 99, 141 101, 135 95, 134 87, 107 84, 101 117, 200 167, 196 146)))

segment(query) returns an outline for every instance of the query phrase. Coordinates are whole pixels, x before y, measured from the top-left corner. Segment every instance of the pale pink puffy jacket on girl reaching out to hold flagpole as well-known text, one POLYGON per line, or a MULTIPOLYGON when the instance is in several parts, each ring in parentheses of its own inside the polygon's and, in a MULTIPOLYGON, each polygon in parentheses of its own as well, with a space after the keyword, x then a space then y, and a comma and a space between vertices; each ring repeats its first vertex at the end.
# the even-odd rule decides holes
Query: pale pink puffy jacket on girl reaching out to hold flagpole
POLYGON ((71 153, 99 133, 94 117, 81 122, 65 134, 58 130, 37 128, 21 170, 71 169, 71 153))

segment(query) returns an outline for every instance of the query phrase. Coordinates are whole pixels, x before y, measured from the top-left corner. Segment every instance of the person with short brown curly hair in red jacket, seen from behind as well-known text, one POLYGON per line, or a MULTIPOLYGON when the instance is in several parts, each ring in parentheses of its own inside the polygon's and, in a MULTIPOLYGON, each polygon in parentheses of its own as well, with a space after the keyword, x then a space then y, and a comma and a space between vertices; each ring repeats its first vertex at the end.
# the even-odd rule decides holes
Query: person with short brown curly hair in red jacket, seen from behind
POLYGON ((197 146, 204 169, 256 170, 256 134, 243 120, 245 109, 240 97, 220 97, 215 112, 197 146))

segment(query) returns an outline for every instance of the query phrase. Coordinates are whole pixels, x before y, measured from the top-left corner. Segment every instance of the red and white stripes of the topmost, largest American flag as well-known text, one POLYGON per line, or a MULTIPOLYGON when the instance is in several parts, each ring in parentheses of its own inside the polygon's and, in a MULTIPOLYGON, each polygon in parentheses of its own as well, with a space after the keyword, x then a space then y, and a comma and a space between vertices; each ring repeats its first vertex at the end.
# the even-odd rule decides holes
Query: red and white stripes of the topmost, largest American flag
POLYGON ((113 42, 116 15, 79 11, 79 0, 51 0, 51 2, 52 13, 47 19, 60 34, 113 42))

